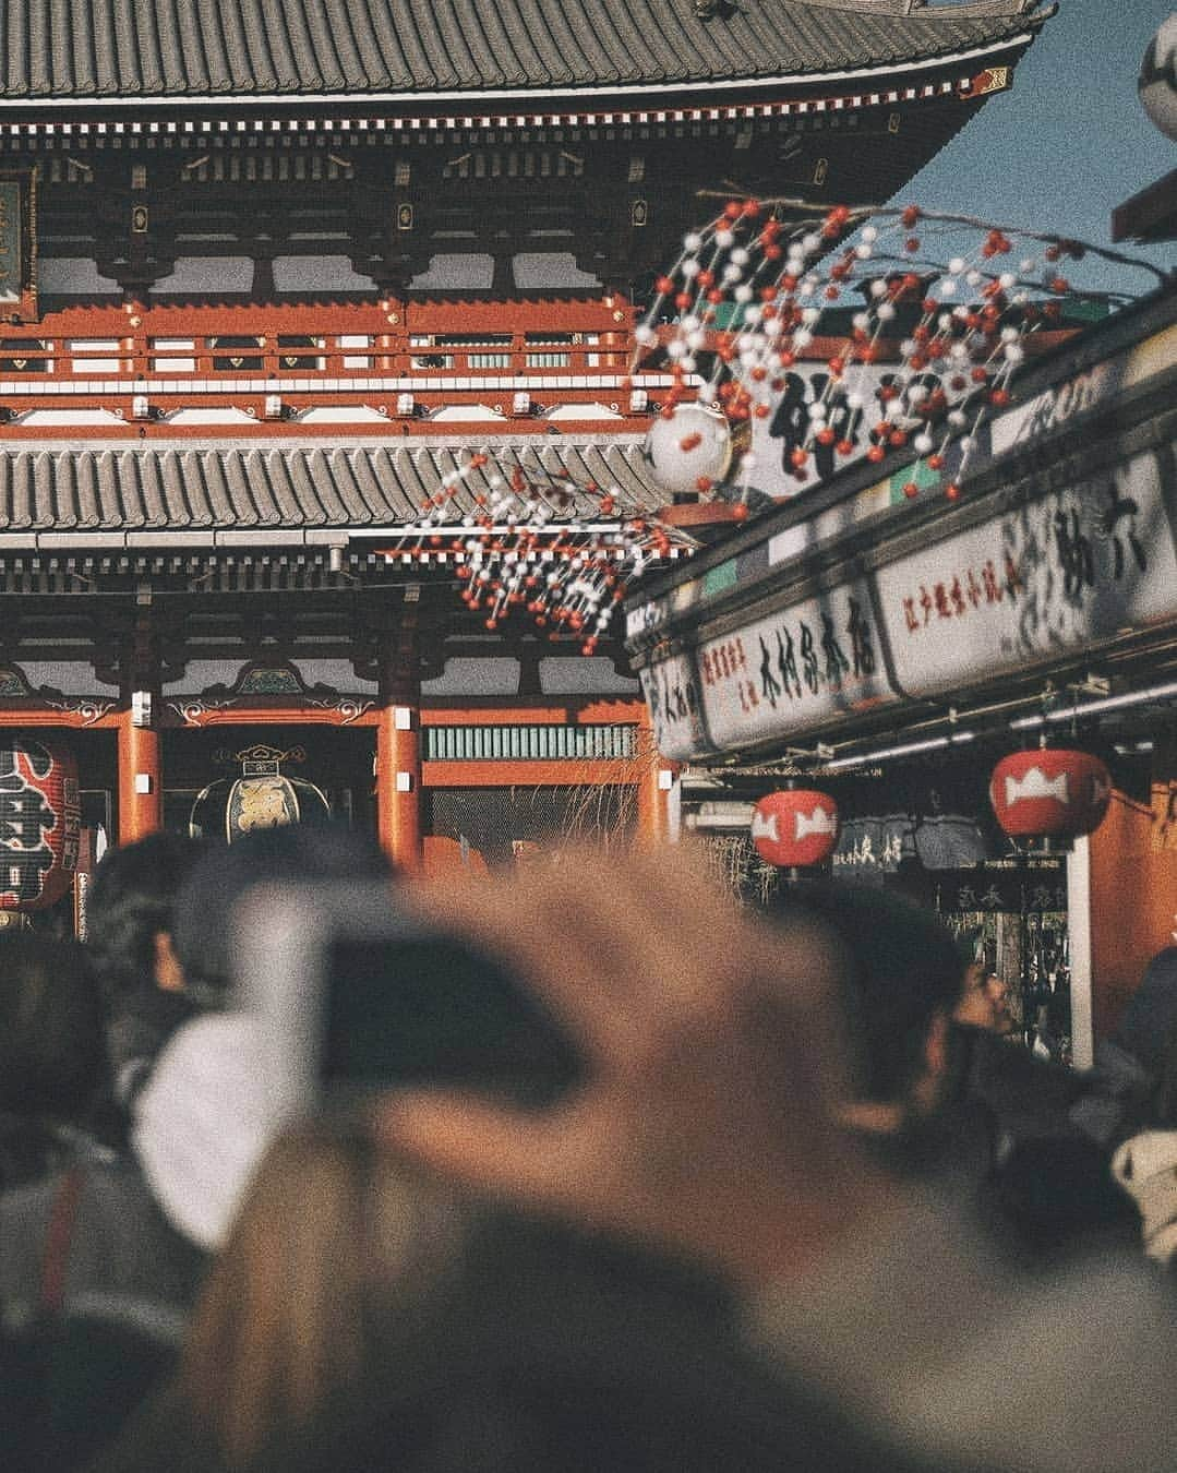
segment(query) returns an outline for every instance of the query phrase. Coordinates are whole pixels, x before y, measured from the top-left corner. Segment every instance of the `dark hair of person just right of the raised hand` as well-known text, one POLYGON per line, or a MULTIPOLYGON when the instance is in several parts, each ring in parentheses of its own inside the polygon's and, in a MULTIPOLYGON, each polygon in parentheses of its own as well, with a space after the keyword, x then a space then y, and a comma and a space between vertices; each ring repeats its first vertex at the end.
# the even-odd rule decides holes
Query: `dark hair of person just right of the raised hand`
POLYGON ((782 921, 819 916, 846 950, 838 978, 854 1096, 896 1102, 919 1078, 932 1019, 960 999, 965 962, 940 919, 904 896, 841 881, 794 887, 775 903, 782 921))

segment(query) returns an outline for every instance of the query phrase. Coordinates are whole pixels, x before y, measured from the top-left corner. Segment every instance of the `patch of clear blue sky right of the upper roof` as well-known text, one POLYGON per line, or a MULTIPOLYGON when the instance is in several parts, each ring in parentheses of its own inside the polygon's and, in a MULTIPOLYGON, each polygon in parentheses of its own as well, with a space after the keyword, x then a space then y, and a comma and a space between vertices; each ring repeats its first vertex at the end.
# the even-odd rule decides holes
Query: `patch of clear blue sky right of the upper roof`
MULTIPOLYGON (((1059 0, 1012 90, 993 97, 896 202, 1111 247, 1112 209, 1177 168, 1177 143, 1136 94, 1149 40, 1173 10, 1173 0, 1059 0)), ((1177 243, 1114 249, 1177 265, 1177 243)), ((1145 273, 1089 262, 1068 274, 1096 290, 1155 284, 1145 273)))

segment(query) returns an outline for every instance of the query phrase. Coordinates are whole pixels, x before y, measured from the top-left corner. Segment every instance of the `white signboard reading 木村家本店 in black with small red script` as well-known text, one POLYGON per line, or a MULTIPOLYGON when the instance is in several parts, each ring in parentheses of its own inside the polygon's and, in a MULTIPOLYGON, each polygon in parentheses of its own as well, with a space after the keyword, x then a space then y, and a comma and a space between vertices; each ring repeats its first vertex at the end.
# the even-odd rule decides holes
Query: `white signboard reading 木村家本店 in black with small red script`
POLYGON ((695 664, 719 750, 812 731, 840 711, 894 700, 862 583, 704 639, 695 664))

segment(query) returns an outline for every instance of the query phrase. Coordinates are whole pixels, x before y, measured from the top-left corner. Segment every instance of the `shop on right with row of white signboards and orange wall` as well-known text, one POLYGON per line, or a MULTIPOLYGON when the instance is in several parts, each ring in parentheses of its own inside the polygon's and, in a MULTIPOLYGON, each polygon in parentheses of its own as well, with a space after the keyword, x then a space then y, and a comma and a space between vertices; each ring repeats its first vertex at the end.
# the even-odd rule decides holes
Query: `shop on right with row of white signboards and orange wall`
MULTIPOLYGON (((681 829, 742 843, 741 804, 804 776, 843 809, 840 872, 916 875, 969 925, 985 907, 960 891, 1000 897, 1013 863, 1022 934, 1065 915, 1080 1064, 1177 912, 1174 387, 1168 292, 1025 370, 965 474, 959 452, 938 485, 921 467, 909 499, 909 454, 860 461, 626 605, 660 750, 685 764, 681 829), (1115 788, 1052 862, 1050 910, 987 797, 1039 742, 1097 753, 1115 788)), ((1061 946, 1025 941, 1016 980, 1058 974, 1061 946)))

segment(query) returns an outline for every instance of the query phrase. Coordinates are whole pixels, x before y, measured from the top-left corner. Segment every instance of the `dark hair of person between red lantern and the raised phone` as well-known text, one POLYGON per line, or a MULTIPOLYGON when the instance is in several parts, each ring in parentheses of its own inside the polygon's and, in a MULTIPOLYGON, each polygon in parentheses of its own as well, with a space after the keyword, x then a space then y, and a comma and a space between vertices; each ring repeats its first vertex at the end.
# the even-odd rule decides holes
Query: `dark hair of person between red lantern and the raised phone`
POLYGON ((85 946, 109 997, 155 987, 155 938, 171 932, 175 897, 203 850, 159 832, 103 854, 85 899, 85 946))

